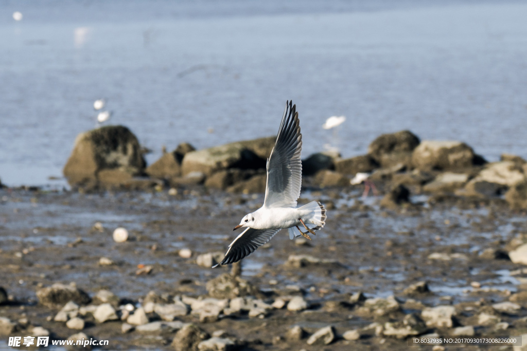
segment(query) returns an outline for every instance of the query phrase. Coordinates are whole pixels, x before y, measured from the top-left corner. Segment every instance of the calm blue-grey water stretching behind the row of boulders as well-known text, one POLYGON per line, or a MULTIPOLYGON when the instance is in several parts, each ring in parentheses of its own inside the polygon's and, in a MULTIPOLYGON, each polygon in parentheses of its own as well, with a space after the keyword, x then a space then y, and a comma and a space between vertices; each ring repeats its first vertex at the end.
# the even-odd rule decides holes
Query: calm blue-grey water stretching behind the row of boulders
POLYGON ((61 176, 100 97, 149 162, 163 144, 274 135, 286 99, 304 156, 411 129, 527 157, 525 2, 363 3, 2 1, 0 178, 61 176), (331 115, 347 117, 337 137, 331 115))

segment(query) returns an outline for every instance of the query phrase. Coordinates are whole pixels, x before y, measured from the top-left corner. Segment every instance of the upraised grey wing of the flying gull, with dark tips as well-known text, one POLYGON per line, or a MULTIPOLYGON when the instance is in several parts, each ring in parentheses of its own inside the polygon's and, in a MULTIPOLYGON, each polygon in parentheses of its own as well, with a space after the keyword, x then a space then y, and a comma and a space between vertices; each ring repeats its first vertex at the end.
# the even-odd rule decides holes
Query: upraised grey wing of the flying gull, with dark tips
POLYGON ((275 147, 267 159, 265 207, 294 207, 302 186, 302 134, 296 105, 286 103, 275 147))

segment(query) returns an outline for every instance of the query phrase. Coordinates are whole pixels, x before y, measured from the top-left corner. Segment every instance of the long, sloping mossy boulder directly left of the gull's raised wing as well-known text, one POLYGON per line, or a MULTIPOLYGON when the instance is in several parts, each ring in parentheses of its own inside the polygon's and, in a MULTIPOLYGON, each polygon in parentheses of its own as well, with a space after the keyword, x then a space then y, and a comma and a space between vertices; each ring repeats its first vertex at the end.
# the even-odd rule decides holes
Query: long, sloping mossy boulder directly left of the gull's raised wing
POLYGON ((210 176, 230 168, 265 168, 274 143, 275 137, 268 137, 189 152, 183 157, 182 175, 201 172, 210 176))

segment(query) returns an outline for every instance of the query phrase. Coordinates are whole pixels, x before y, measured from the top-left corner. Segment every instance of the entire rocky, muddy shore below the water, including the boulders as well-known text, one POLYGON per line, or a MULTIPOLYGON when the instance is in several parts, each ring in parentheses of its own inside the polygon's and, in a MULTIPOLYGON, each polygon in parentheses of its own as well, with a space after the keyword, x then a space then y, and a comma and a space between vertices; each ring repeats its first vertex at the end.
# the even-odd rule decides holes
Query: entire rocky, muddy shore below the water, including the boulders
POLYGON ((404 350, 412 336, 527 333, 526 162, 409 131, 362 156, 305 157, 299 203, 325 204, 324 229, 211 269, 263 202, 273 142, 182 143, 147 165, 128 128, 107 126, 76 138, 71 190, 0 189, 3 340, 404 350), (350 184, 359 172, 376 195, 350 184))

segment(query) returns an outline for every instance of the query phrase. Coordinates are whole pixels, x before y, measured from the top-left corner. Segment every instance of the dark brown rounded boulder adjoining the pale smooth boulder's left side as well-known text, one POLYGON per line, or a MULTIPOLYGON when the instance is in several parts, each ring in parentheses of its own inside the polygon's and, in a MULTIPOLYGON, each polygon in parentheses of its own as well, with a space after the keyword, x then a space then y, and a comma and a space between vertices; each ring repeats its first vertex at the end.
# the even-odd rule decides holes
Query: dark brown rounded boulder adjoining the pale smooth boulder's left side
POLYGON ((419 138, 410 131, 382 134, 368 146, 368 155, 383 168, 403 164, 411 168, 412 152, 419 138))

